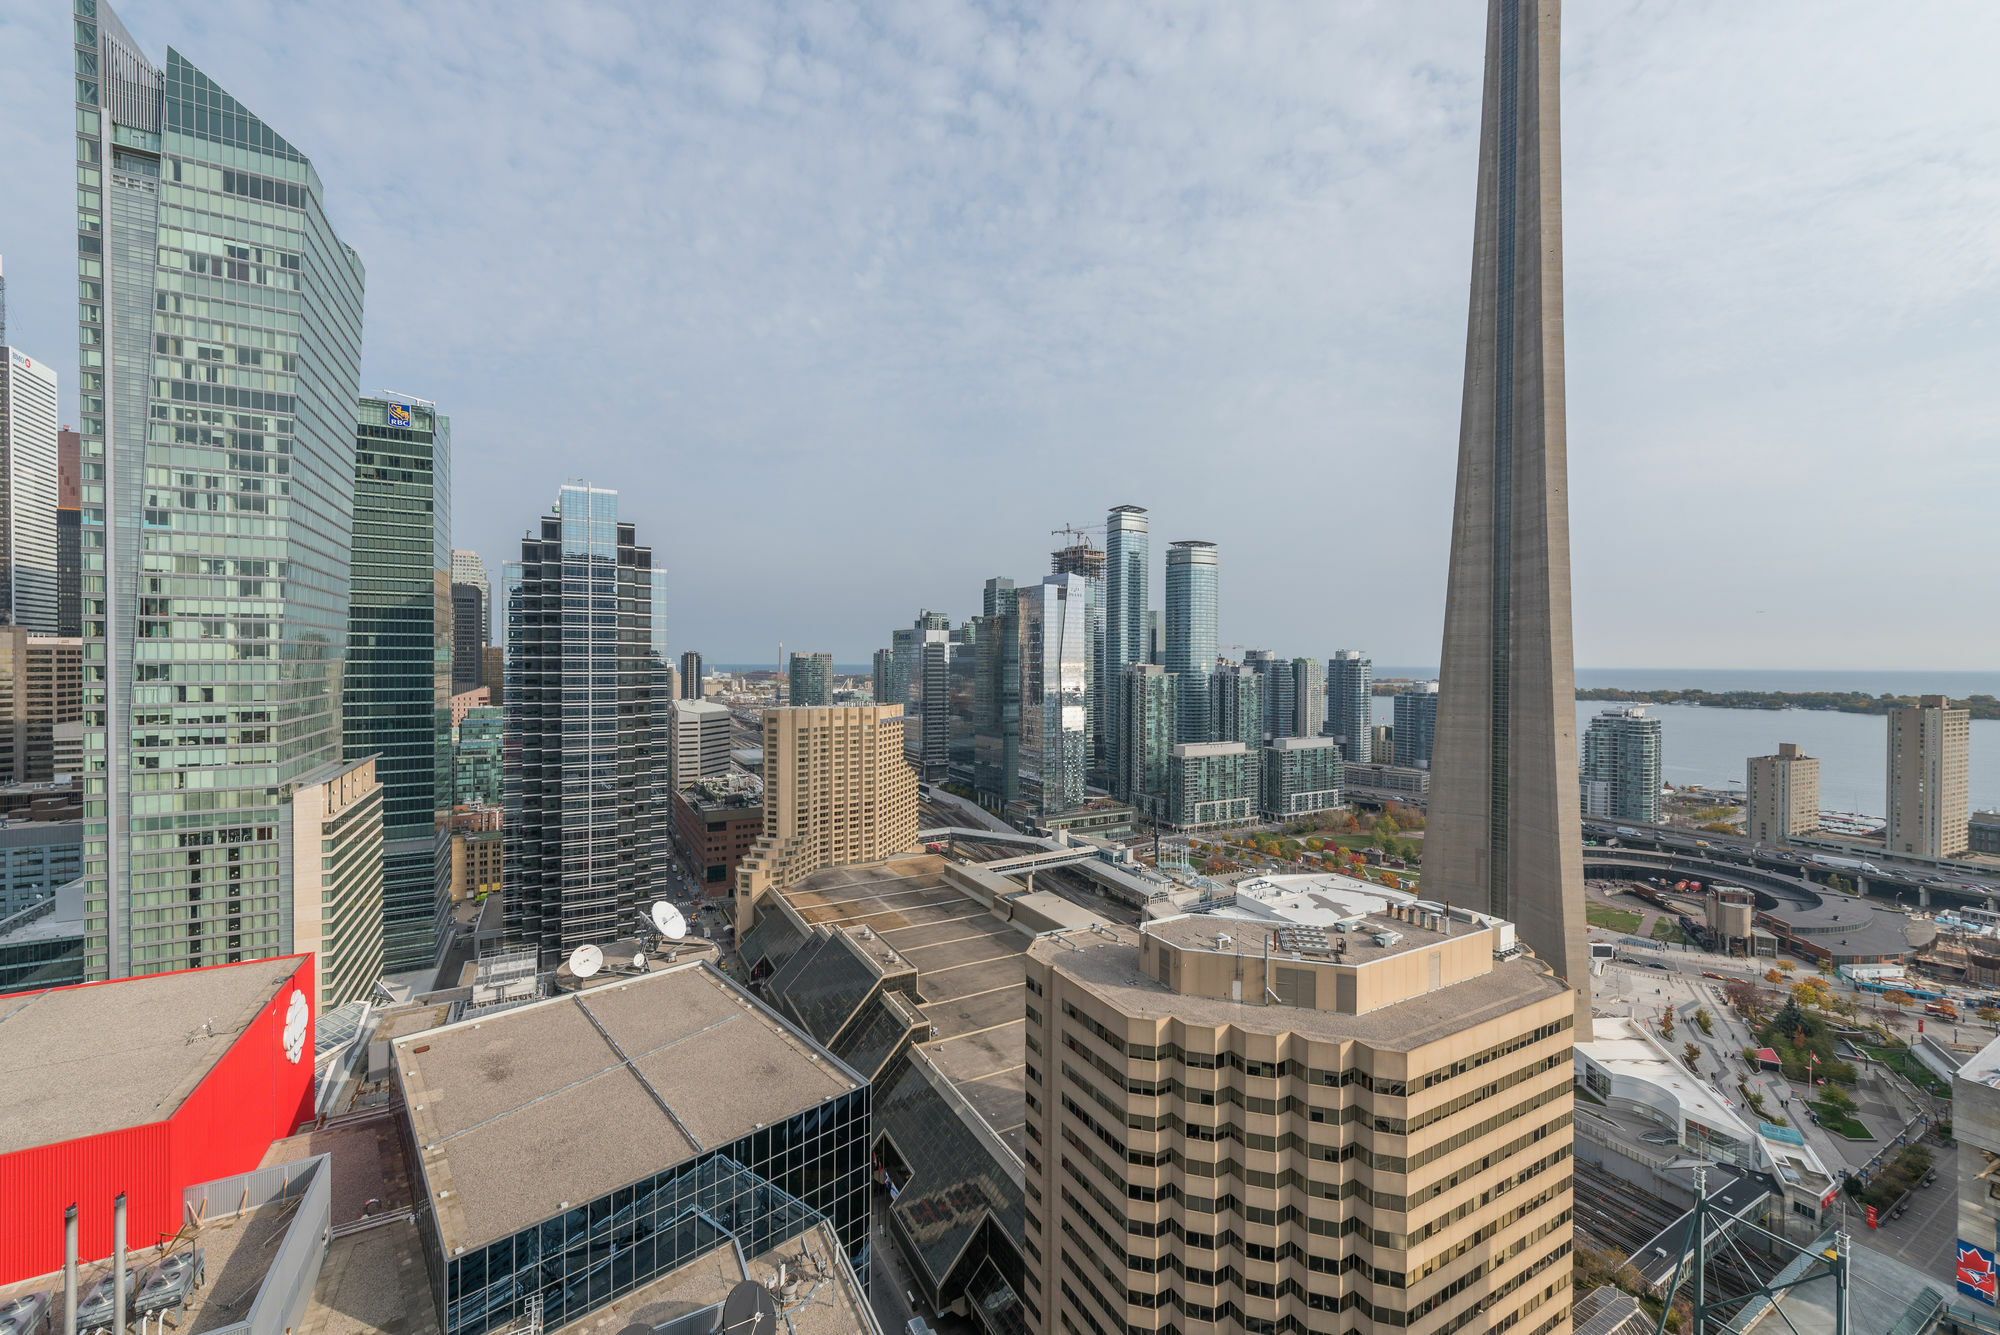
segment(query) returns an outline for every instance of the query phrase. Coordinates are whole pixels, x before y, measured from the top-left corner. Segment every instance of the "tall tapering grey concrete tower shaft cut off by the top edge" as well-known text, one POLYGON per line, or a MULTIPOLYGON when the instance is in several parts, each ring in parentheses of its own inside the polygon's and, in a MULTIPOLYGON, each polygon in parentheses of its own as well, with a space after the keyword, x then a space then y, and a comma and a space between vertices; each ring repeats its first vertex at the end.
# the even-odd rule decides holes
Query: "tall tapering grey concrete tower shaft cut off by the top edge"
POLYGON ((1424 893, 1518 923, 1574 987, 1582 1041, 1558 54, 1558 4, 1488 0, 1424 893))

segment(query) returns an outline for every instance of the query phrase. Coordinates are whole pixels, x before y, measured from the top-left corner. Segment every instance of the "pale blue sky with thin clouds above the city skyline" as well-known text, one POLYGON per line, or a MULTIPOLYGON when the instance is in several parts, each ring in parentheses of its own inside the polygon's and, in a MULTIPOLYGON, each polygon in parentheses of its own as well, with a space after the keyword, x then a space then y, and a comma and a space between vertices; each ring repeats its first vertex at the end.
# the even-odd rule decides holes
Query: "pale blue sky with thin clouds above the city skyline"
MULTIPOLYGON (((1484 6, 128 0, 314 158, 498 574, 622 492, 672 642, 862 662, 1152 510, 1222 640, 1434 664, 1484 6)), ((2000 6, 1572 4, 1584 666, 1996 668, 2000 6)), ((74 416, 68 6, 0 6, 74 416)))

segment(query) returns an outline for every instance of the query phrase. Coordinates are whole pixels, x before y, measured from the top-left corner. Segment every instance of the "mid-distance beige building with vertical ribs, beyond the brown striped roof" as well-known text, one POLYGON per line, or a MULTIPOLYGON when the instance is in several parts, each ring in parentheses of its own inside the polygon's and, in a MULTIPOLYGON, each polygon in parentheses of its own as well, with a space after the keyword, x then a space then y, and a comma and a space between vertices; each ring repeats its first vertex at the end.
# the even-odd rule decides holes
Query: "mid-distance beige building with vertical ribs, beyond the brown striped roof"
POLYGON ((914 843, 902 705, 764 711, 764 837, 736 867, 738 931, 750 929, 766 891, 914 843))

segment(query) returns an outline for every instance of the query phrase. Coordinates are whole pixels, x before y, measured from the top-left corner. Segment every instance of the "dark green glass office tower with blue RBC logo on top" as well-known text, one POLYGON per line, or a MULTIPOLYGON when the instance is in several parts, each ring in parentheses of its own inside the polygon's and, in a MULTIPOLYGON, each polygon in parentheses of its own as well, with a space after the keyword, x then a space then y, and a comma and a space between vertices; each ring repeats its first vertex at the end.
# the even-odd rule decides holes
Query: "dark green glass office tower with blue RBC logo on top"
MULTIPOLYGON (((432 969, 452 909, 452 420, 362 398, 354 438, 354 592, 342 677, 346 757, 382 785, 382 967, 432 969)), ((294 949, 302 949, 294 941, 294 949)), ((348 997, 342 997, 348 999, 348 997)))

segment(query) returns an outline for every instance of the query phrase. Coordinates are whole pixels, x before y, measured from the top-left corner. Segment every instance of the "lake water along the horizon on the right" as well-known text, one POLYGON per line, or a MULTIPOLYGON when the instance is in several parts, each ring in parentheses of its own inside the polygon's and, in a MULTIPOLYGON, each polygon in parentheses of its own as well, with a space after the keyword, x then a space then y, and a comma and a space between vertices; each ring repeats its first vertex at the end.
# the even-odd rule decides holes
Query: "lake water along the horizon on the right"
MULTIPOLYGON (((1428 677, 1436 668, 1382 668, 1384 677, 1428 677)), ((2000 695, 2000 671, 1718 671, 1662 668, 1578 668, 1580 687, 1704 689, 1704 691, 1892 691, 1898 695, 2000 695)), ((1394 697, 1376 695, 1376 723, 1394 723, 1394 697)), ((1616 707, 1608 699, 1576 701, 1576 735, 1590 719, 1616 707)), ((1820 757, 1820 805, 1834 811, 1884 813, 1888 719, 1880 713, 1830 709, 1708 709, 1648 705, 1660 717, 1660 771, 1672 785, 1742 787, 1744 761, 1796 741, 1820 757)), ((2000 807, 2000 719, 1972 721, 1972 809, 2000 807)))

